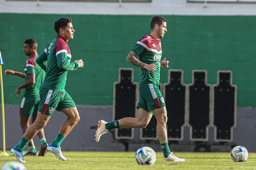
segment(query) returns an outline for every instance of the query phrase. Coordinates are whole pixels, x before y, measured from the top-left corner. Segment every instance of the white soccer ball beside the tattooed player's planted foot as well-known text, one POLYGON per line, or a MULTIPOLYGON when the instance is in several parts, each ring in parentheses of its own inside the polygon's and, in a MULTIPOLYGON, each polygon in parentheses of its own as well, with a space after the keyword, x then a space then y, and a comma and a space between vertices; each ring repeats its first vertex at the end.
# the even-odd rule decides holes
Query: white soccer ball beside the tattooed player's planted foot
POLYGON ((150 147, 141 147, 137 150, 135 158, 139 165, 153 165, 156 162, 156 152, 150 147))

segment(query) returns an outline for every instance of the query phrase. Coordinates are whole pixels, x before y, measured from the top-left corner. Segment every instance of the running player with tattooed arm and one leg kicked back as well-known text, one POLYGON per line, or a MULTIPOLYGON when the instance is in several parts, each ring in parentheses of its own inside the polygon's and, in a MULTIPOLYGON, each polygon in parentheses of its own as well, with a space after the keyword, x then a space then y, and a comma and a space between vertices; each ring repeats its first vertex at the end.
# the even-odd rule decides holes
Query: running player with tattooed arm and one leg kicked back
POLYGON ((137 105, 139 118, 122 118, 112 122, 100 120, 95 140, 99 142, 100 136, 114 128, 145 128, 154 115, 157 120, 157 135, 164 154, 163 161, 184 162, 185 159, 174 156, 169 149, 166 129, 167 111, 158 86, 160 68, 169 67, 166 58, 161 60, 160 40, 167 32, 167 20, 162 16, 154 16, 150 26, 151 33, 138 40, 126 58, 126 61, 142 70, 139 82, 140 100, 137 105), (138 56, 139 60, 136 58, 138 56))

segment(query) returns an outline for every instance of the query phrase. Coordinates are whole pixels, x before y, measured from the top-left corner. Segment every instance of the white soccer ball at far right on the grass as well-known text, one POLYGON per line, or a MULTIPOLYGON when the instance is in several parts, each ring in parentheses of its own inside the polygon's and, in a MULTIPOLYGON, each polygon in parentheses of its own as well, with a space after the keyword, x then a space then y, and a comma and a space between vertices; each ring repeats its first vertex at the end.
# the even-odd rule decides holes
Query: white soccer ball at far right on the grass
POLYGON ((245 162, 248 158, 248 151, 244 146, 236 146, 231 151, 231 158, 234 162, 245 162))

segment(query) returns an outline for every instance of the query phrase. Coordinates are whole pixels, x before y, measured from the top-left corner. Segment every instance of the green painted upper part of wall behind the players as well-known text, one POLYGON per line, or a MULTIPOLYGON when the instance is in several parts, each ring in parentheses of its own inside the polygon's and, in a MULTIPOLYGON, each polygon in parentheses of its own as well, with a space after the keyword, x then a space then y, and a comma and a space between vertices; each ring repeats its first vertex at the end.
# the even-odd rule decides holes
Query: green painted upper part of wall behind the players
MULTIPOLYGON (((137 40, 150 33, 152 16, 103 16, 57 14, 0 14, 0 51, 4 70, 23 72, 27 56, 24 40, 35 38, 40 54, 56 37, 55 20, 70 17, 75 36, 69 41, 72 60, 83 59, 84 68, 70 71, 66 91, 77 105, 112 105, 113 83, 118 68, 140 68, 126 62, 137 40)), ((217 70, 232 70, 238 86, 237 106, 256 106, 256 16, 165 16, 167 33, 162 38, 163 57, 173 69, 184 70, 184 83, 192 82, 192 70, 207 70, 207 83, 217 83, 217 70)), ((168 69, 161 70, 161 83, 168 81, 168 69)), ((17 76, 3 76, 5 104, 20 104, 16 87, 24 83, 17 76)), ((23 94, 24 91, 21 91, 23 94)))

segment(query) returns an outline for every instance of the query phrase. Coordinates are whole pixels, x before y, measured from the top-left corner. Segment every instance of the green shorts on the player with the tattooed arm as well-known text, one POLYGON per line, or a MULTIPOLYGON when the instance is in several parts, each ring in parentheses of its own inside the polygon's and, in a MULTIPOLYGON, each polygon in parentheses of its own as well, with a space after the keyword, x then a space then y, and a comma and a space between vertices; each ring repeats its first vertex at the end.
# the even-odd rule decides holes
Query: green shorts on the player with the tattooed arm
POLYGON ((165 100, 158 84, 139 84, 140 100, 137 108, 142 108, 151 114, 151 110, 165 107, 165 100))

